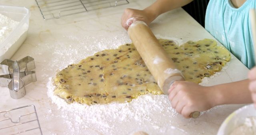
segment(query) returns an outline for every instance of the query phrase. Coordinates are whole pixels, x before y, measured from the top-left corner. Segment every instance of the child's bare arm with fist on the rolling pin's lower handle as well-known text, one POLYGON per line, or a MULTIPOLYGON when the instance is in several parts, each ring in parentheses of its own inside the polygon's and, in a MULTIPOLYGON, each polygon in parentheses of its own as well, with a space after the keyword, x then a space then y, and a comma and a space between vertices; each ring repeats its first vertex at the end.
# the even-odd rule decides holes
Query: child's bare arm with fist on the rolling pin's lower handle
POLYGON ((172 107, 189 118, 194 111, 206 111, 216 105, 252 103, 249 80, 205 87, 188 81, 175 81, 169 89, 172 107))

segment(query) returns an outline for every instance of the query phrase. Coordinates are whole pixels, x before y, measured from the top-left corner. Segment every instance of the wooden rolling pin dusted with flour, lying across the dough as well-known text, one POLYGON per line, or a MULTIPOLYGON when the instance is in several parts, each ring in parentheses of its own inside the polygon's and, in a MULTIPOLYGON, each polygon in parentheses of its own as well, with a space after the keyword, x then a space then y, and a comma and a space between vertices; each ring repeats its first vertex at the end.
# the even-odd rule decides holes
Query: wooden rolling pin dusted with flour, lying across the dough
MULTIPOLYGON (((132 23, 128 35, 164 94, 169 94, 168 89, 174 81, 185 80, 145 22, 132 23)), ((199 115, 200 112, 195 111, 190 117, 197 118, 199 115)))

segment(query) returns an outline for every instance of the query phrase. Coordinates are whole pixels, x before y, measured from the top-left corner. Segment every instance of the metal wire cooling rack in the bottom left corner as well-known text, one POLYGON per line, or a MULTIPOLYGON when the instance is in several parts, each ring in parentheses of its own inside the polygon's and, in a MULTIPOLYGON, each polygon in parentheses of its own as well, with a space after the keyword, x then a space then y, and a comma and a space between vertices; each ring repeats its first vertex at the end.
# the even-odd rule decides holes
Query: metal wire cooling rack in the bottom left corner
POLYGON ((26 105, 0 112, 1 135, 42 135, 34 105, 26 105))

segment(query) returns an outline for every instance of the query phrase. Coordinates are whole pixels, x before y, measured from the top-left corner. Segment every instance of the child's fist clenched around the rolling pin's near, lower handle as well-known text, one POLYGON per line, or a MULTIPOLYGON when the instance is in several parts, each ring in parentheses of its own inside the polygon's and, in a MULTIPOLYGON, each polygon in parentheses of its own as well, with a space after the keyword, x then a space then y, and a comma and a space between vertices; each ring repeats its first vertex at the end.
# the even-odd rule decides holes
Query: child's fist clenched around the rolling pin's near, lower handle
POLYGON ((185 118, 194 111, 206 111, 215 106, 214 94, 210 87, 204 87, 188 81, 175 81, 169 89, 172 107, 185 118))

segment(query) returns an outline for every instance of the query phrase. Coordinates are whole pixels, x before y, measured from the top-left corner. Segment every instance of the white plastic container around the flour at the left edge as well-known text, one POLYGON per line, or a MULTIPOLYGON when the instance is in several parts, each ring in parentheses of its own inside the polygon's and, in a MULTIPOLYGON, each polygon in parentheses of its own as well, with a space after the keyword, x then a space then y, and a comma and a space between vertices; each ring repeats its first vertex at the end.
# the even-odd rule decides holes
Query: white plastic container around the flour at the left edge
POLYGON ((0 5, 0 14, 19 22, 16 28, 0 43, 0 62, 10 59, 26 40, 30 11, 24 7, 0 5))

